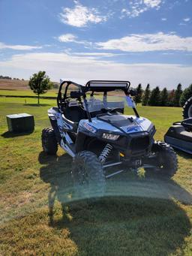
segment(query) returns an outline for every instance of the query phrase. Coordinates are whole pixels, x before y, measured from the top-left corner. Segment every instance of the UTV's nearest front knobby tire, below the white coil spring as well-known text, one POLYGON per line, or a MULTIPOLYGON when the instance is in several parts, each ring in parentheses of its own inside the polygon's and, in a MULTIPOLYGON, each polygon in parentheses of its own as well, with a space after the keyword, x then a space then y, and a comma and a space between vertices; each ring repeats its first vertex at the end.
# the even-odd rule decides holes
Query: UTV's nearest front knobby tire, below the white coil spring
POLYGON ((90 151, 77 153, 72 164, 72 177, 74 190, 80 197, 98 197, 104 194, 104 169, 95 153, 90 151))

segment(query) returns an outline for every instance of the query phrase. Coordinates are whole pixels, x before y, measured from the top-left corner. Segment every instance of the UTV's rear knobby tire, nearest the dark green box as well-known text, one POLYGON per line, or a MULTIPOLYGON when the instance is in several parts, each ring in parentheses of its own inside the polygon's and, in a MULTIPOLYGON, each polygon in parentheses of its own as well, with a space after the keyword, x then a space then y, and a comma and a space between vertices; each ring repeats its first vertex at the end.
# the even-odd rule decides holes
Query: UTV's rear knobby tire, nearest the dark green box
POLYGON ((43 128, 41 134, 43 151, 47 155, 55 155, 58 150, 58 143, 55 138, 55 132, 52 128, 43 128))

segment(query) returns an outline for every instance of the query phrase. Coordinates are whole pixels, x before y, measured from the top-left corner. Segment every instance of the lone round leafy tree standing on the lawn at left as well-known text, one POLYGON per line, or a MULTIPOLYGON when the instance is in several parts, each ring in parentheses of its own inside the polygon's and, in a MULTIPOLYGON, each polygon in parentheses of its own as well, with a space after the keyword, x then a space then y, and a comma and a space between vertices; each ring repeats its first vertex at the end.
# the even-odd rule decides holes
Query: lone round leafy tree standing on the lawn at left
POLYGON ((52 82, 48 76, 46 76, 45 71, 39 71, 37 74, 33 74, 30 77, 28 82, 31 90, 38 95, 38 104, 39 104, 39 95, 46 93, 49 89, 52 89, 52 82))

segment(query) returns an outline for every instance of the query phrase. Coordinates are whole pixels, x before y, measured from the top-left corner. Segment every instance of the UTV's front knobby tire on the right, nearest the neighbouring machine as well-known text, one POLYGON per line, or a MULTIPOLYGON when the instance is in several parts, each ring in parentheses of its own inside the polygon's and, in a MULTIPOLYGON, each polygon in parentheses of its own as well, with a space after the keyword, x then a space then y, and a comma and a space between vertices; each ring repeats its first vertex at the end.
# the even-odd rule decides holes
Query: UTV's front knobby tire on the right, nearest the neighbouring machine
POLYGON ((169 144, 155 141, 151 149, 152 154, 156 155, 154 162, 157 169, 145 169, 146 174, 155 174, 166 178, 171 178, 178 169, 177 155, 169 144))

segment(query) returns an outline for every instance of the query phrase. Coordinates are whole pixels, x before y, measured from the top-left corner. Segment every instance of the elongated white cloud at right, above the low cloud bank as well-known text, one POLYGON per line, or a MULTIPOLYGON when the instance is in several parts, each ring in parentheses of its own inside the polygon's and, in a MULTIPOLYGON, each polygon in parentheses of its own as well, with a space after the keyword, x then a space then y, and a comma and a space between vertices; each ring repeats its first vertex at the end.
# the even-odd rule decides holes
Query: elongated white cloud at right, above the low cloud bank
POLYGON ((125 52, 149 52, 157 50, 192 51, 192 37, 181 38, 172 33, 163 34, 162 32, 157 34, 132 34, 124 38, 99 42, 97 45, 100 49, 121 50, 125 52))

